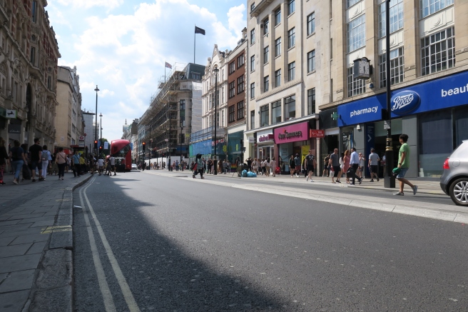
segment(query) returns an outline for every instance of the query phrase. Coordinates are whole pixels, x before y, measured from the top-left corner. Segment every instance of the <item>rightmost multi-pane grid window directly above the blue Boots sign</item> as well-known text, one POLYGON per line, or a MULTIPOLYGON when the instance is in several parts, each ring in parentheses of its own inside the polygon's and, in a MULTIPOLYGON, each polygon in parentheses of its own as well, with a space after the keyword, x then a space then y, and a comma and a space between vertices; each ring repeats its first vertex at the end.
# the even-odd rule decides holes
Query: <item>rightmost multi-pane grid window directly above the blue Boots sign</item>
POLYGON ((422 76, 451 69, 455 65, 455 29, 450 27, 421 39, 422 76))

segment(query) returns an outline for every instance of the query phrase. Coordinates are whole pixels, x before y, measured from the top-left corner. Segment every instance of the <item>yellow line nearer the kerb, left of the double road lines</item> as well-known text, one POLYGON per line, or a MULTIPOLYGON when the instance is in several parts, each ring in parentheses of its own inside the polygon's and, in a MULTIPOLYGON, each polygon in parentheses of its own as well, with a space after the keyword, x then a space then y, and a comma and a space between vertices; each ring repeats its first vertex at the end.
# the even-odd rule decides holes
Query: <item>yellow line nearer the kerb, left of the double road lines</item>
POLYGON ((116 305, 113 302, 112 293, 109 289, 109 285, 106 280, 106 274, 104 273, 104 269, 102 267, 101 259, 99 258, 99 251, 98 247, 96 246, 96 241, 94 239, 93 229, 91 228, 91 223, 89 222, 88 213, 84 208, 83 203, 83 188, 80 190, 80 201, 81 201, 81 209, 83 210, 84 221, 86 222, 86 229, 88 230, 88 238, 89 238, 89 245, 91 246, 91 253, 93 254, 93 262, 94 268, 96 269, 96 274, 98 276, 98 284, 99 289, 101 290, 101 294, 104 301, 104 307, 106 308, 107 312, 117 311, 116 305))

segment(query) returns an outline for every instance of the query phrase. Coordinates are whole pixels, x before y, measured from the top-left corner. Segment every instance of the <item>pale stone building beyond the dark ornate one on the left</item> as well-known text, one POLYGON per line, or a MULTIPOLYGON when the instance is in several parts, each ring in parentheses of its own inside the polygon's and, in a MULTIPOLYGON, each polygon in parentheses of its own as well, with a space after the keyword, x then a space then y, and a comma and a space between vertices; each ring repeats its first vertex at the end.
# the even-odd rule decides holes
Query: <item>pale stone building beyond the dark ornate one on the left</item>
MULTIPOLYGON (((57 103, 55 115, 56 145, 85 147, 84 115, 81 112, 80 76, 76 66, 59 66, 57 71, 57 103)), ((86 133, 87 136, 87 133, 86 133)))

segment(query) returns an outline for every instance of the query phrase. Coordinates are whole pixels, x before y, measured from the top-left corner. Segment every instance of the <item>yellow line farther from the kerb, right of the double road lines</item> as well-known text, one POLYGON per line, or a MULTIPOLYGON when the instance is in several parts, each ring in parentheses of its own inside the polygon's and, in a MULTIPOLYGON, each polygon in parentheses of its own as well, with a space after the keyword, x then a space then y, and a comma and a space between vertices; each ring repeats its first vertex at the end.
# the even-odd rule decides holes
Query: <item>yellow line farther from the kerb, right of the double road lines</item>
POLYGON ((91 216, 93 216, 93 221, 96 224, 96 228, 98 230, 99 236, 101 237, 101 241, 103 243, 104 249, 106 249, 106 254, 109 258, 109 262, 111 263, 113 273, 116 275, 118 285, 121 287, 121 291, 123 294, 123 298, 125 298, 125 301, 127 303, 128 309, 131 312, 139 312, 140 308, 138 308, 138 304, 135 301, 135 298, 133 298, 133 294, 131 293, 130 287, 128 287, 128 283, 126 281, 125 276, 123 276, 121 267, 118 266, 118 262, 116 257, 113 255, 113 251, 111 246, 109 245, 106 234, 104 234, 103 229, 101 227, 101 223, 98 221, 98 217, 96 216, 96 213, 94 213, 93 206, 91 206, 91 203, 88 200, 88 196, 86 196, 86 189, 91 186, 93 181, 96 179, 96 177, 93 177, 91 182, 88 183, 88 186, 84 188, 84 198, 86 199, 86 203, 88 204, 89 211, 91 212, 91 216))

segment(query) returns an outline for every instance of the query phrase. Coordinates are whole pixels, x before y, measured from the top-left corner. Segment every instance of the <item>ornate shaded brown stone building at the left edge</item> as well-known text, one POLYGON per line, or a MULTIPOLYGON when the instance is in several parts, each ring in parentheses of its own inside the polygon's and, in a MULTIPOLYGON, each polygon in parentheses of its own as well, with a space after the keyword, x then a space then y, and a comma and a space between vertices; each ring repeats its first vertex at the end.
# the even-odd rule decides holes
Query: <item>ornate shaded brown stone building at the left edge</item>
POLYGON ((0 136, 55 144, 59 46, 45 0, 0 1, 0 136))

